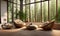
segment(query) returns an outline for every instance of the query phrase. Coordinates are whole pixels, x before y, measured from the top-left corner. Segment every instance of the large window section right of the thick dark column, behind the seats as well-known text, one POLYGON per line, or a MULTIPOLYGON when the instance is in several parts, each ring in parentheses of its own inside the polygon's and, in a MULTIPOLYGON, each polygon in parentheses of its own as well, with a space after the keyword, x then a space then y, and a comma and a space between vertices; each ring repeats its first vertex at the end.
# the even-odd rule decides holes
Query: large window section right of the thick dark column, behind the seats
POLYGON ((23 0, 23 5, 27 21, 45 22, 56 18, 56 0, 23 0))

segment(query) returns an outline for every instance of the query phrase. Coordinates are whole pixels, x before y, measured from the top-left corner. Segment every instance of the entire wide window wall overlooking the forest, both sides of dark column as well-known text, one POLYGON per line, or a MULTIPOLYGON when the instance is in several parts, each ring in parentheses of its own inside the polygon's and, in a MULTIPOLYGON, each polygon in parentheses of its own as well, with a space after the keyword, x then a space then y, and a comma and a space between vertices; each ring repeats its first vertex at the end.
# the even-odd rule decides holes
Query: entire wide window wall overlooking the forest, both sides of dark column
POLYGON ((8 21, 45 22, 56 17, 56 0, 8 0, 8 21), (19 13, 24 13, 21 15, 19 13))

